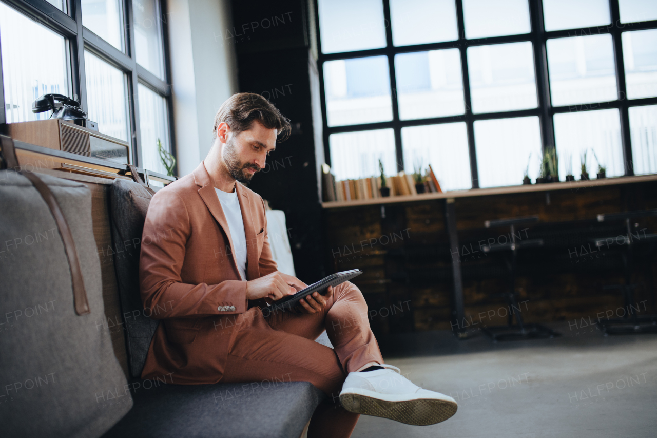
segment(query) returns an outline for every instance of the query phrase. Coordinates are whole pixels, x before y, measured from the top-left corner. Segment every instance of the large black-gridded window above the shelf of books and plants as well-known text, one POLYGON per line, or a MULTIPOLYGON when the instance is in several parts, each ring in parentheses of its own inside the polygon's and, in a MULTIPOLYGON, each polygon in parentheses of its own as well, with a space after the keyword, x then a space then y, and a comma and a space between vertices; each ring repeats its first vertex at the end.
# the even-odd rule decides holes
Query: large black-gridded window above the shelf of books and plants
POLYGON ((654 0, 316 0, 338 180, 431 164, 445 189, 657 172, 654 0), (599 160, 599 162, 597 161, 599 160))

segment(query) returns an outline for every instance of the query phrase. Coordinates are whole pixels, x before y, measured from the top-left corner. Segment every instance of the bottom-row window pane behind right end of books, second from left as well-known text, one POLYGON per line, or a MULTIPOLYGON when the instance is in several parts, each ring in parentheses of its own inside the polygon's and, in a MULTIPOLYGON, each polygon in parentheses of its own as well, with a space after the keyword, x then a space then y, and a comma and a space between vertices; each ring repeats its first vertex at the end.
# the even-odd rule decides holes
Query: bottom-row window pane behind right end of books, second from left
POLYGON ((431 164, 443 191, 470 189, 470 153, 464 122, 401 128, 404 170, 422 172, 431 164))

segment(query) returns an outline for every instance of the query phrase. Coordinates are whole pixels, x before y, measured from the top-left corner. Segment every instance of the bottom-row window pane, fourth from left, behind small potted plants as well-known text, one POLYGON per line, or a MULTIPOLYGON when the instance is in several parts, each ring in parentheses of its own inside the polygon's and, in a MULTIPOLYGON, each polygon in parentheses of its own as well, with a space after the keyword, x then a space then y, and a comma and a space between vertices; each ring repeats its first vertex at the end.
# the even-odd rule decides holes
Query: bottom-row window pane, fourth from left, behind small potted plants
POLYGON ((607 176, 625 174, 617 109, 555 114, 555 143, 562 179, 569 158, 572 174, 581 174, 581 155, 585 152, 590 178, 598 173, 596 155, 606 167, 607 176))

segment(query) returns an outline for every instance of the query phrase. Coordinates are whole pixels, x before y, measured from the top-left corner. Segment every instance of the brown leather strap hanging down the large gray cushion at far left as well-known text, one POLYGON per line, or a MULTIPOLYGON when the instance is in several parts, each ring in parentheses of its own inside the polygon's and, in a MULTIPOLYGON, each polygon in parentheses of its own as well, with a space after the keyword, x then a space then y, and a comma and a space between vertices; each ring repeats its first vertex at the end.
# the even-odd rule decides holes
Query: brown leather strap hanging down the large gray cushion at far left
POLYGON ((87 291, 84 288, 84 280, 82 278, 82 269, 80 268, 80 262, 78 258, 78 250, 76 250, 75 241, 73 240, 73 235, 71 234, 70 228, 68 228, 68 222, 66 222, 66 217, 62 209, 59 207, 59 203, 53 195, 53 192, 48 188, 41 179, 34 174, 34 172, 26 172, 18 166, 18 158, 16 158, 16 151, 14 149, 14 140, 11 137, 5 135, 0 135, 2 139, 2 153, 5 158, 5 163, 7 168, 13 168, 21 174, 22 176, 28 178, 35 189, 39 192, 43 201, 50 208, 55 222, 57 223, 57 229, 59 234, 62 236, 62 241, 64 243, 64 250, 66 251, 66 256, 68 257, 68 266, 71 270, 71 281, 73 284, 73 302, 76 309, 76 314, 84 315, 91 312, 89 310, 89 301, 87 301, 87 291))

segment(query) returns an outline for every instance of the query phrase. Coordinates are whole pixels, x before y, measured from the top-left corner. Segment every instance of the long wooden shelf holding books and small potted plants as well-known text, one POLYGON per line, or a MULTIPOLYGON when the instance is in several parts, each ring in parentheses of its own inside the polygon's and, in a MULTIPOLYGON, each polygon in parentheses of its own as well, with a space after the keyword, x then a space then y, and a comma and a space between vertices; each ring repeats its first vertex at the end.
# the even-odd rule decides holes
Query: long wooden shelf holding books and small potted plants
POLYGON ((620 185, 649 181, 657 181, 657 174, 640 176, 618 176, 615 178, 602 178, 602 180, 564 181, 558 183, 532 185, 509 185, 507 187, 491 187, 489 189, 451 190, 444 193, 422 193, 422 195, 403 195, 374 199, 357 199, 355 201, 332 201, 322 203, 322 208, 346 208, 359 207, 361 205, 387 205, 396 203, 430 201, 432 199, 507 195, 510 193, 528 193, 532 191, 577 190, 587 187, 602 187, 605 185, 620 185))

